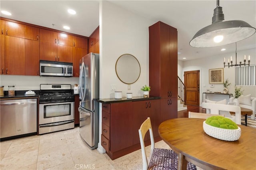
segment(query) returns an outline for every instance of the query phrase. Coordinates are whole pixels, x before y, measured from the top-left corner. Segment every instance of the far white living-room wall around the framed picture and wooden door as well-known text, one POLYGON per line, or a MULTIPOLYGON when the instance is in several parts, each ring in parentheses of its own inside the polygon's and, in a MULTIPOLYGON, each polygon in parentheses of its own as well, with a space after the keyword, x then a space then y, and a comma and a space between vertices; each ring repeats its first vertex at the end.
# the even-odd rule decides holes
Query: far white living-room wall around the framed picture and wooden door
MULTIPOLYGON (((234 56, 234 53, 216 55, 212 57, 206 57, 204 59, 183 61, 183 72, 192 71, 192 70, 200 70, 200 102, 202 101, 202 93, 206 92, 207 89, 212 90, 213 92, 220 91, 223 92, 224 86, 223 84, 214 84, 214 88, 210 88, 209 84, 209 69, 212 68, 223 68, 223 59, 226 57, 226 61, 228 57, 234 56)), ((250 55, 250 64, 256 64, 256 49, 250 49, 245 51, 237 51, 237 63, 239 61, 243 61, 243 56, 250 55)), ((235 57, 233 57, 233 61, 235 62, 235 57)), ((229 93, 234 94, 234 85, 235 85, 235 68, 233 67, 225 67, 224 68, 224 81, 226 78, 231 82, 231 86, 229 86, 229 93)), ((252 94, 253 97, 256 97, 256 86, 243 86, 244 95, 252 94)))

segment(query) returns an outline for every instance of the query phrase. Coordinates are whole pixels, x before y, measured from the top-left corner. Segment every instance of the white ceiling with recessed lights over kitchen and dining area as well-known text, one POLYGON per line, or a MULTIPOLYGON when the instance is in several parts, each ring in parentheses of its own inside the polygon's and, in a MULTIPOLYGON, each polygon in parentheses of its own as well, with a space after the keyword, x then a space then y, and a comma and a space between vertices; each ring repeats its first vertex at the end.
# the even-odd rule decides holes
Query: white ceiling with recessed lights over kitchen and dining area
MULTIPOLYGON (((235 54, 234 43, 210 48, 194 48, 189 45, 198 30, 212 23, 216 0, 110 0, 109 2, 150 19, 153 21, 152 23, 162 21, 176 27, 178 29, 179 60, 199 59, 224 53, 235 54), (220 51, 222 48, 225 48, 226 51, 220 51), (182 59, 183 57, 187 59, 182 59)), ((255 0, 220 0, 220 6, 223 8, 225 20, 243 20, 256 27, 255 0)), ((5 18, 86 37, 89 37, 99 25, 98 0, 1 0, 0 9, 12 13, 12 16, 1 14, 5 18), (68 14, 69 8, 76 10, 76 14, 68 14), (70 26, 70 30, 63 29, 64 25, 70 26)), ((256 34, 237 43, 237 51, 255 48, 256 34)))

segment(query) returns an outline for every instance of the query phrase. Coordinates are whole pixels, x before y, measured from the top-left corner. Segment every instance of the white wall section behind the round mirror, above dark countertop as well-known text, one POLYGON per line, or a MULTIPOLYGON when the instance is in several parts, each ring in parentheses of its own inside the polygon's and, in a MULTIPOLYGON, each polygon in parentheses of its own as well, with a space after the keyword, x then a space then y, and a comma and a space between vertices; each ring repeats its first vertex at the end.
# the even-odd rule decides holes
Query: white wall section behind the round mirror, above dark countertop
POLYGON ((114 98, 111 84, 115 84, 123 96, 127 92, 133 93, 132 96, 143 96, 140 88, 149 83, 148 27, 154 23, 111 2, 101 3, 100 98, 114 98), (123 54, 133 55, 140 63, 140 77, 131 84, 131 90, 118 79, 115 71, 116 60, 123 54))

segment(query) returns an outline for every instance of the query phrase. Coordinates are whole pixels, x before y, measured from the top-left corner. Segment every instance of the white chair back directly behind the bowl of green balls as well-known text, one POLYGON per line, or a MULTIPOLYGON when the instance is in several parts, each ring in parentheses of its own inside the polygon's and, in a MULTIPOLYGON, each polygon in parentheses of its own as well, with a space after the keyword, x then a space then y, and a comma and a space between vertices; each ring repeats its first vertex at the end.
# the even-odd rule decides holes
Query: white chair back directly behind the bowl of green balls
POLYGON ((225 117, 236 122, 236 124, 241 125, 241 108, 239 106, 203 102, 202 108, 206 109, 206 114, 225 115, 225 117), (230 111, 235 112, 235 115, 231 115, 230 111))

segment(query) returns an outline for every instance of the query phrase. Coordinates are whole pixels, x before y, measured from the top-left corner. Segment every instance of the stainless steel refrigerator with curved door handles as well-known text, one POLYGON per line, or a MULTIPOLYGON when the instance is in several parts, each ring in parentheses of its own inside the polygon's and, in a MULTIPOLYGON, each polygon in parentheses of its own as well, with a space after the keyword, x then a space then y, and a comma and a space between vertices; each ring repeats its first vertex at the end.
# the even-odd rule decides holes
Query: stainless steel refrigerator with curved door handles
POLYGON ((95 149, 99 142, 99 54, 89 53, 80 60, 80 136, 95 149))

